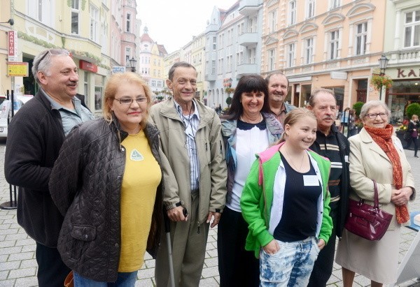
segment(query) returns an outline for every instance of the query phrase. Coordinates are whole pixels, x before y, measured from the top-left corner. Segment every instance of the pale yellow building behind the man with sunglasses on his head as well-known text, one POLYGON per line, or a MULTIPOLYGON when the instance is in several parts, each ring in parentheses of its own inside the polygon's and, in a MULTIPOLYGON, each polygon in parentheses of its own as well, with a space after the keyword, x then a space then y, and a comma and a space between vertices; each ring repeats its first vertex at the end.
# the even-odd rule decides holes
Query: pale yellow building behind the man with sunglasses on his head
MULTIPOLYGON (((34 1, 22 0, 13 1, 11 11, 13 29, 18 31, 18 61, 28 62, 30 71, 34 57, 43 50, 69 50, 79 68, 78 92, 85 94, 89 108, 98 113, 110 71, 110 1, 40 0, 34 9, 34 1)), ((15 91, 36 94, 37 90, 31 73, 15 77, 15 91)))

